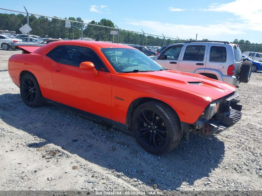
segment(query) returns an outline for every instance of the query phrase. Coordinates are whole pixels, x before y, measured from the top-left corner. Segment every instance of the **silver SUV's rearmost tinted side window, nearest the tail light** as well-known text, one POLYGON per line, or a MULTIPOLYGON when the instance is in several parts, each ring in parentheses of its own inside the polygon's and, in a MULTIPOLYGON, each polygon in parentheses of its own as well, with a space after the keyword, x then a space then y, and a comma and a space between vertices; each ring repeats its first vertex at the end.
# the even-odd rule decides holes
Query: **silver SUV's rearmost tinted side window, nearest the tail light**
POLYGON ((209 60, 211 62, 226 62, 227 49, 224 46, 211 46, 209 60))

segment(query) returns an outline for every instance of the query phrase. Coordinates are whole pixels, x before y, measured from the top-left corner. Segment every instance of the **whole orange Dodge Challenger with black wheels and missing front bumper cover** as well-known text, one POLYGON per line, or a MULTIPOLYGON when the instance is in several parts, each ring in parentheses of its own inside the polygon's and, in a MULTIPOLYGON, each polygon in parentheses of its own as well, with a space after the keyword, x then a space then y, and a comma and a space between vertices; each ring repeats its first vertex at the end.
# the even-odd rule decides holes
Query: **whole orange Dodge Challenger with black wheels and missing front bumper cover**
POLYGON ((202 75, 162 68, 139 50, 98 41, 16 46, 8 72, 30 107, 51 102, 132 131, 160 155, 182 134, 212 135, 238 120, 236 87, 202 75))

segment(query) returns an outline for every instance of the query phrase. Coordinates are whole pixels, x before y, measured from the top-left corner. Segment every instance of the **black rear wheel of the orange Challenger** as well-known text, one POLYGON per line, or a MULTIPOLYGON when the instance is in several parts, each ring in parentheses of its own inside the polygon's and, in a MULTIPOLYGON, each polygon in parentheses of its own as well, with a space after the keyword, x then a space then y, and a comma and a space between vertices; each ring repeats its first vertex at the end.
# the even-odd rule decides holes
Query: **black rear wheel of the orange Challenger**
POLYGON ((30 74, 25 74, 20 81, 21 98, 29 107, 38 107, 45 104, 38 81, 30 74))

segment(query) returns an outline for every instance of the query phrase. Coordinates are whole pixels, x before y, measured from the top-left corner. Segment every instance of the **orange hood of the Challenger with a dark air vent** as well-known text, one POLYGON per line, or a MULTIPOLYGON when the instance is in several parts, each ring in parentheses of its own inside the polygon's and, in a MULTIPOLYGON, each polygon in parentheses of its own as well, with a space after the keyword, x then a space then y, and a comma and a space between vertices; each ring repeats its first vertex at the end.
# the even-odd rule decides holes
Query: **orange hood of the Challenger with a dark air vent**
POLYGON ((214 101, 224 97, 236 89, 235 86, 222 81, 210 79, 199 74, 174 70, 128 73, 128 75, 141 81, 147 81, 154 84, 194 92, 195 94, 202 95, 208 101, 214 101), (202 82, 202 84, 192 84, 192 82, 202 82))

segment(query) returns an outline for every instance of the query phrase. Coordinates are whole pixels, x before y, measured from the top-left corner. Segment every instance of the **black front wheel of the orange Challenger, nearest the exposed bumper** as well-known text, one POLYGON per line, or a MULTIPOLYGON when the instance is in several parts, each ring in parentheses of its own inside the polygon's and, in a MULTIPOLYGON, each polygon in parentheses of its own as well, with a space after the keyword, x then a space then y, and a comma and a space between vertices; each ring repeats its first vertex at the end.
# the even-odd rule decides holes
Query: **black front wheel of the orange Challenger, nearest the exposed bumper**
POLYGON ((154 155, 175 149, 182 138, 179 117, 171 107, 161 102, 146 102, 138 106, 131 126, 139 145, 154 155))

